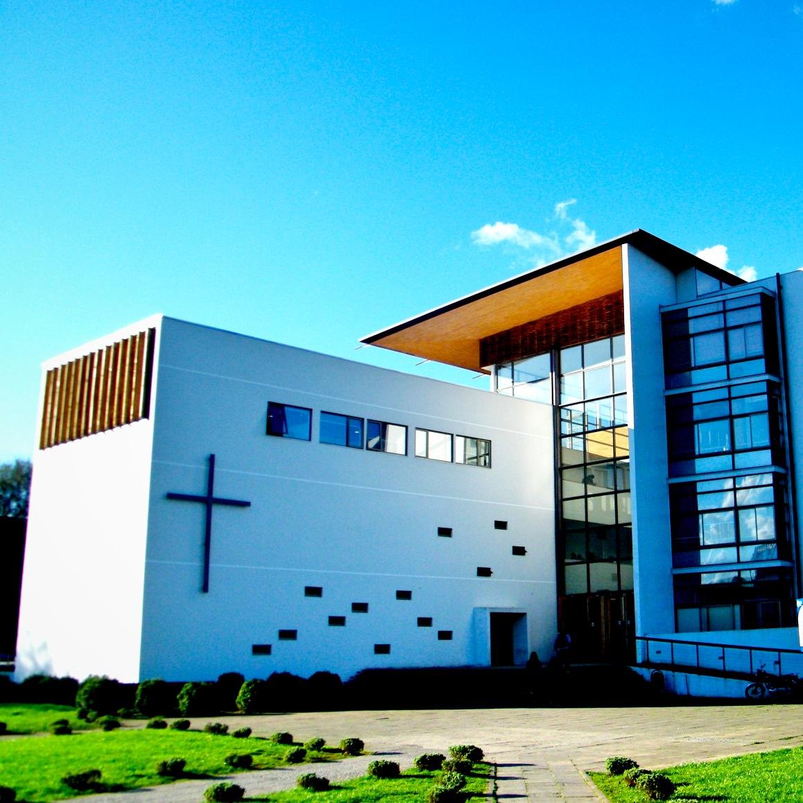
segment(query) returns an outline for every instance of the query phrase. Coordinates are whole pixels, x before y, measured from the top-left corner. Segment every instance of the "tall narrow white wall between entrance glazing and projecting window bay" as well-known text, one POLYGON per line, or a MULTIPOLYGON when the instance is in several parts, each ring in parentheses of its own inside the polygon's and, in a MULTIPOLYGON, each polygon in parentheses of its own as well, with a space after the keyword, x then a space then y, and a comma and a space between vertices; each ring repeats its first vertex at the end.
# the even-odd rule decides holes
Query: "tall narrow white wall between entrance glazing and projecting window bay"
POLYGON ((659 305, 675 303, 675 276, 622 247, 630 401, 630 495, 636 634, 675 630, 659 305))

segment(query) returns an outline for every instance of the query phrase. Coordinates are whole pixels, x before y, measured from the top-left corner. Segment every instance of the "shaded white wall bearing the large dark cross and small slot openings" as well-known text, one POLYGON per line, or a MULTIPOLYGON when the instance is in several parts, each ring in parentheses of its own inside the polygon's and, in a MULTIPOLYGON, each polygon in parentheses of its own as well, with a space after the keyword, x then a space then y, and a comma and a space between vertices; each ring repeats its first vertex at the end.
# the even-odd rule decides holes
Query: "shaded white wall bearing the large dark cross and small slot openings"
POLYGON ((552 454, 547 406, 165 319, 141 676, 346 677, 367 666, 481 662, 477 608, 526 610, 529 648, 547 655, 552 454), (266 435, 268 401, 312 408, 312 442, 266 435), (321 444, 321 410, 405 424, 409 454, 321 444), (414 457, 416 426, 490 439, 493 467, 414 457), (203 491, 210 453, 216 495, 251 507, 215 509, 202 594, 203 507, 165 494, 203 491), (438 526, 453 536, 437 536, 438 526), (527 556, 512 556, 514 544, 527 556), (476 577, 478 566, 493 576, 476 577), (304 597, 305 585, 324 596, 304 597), (396 589, 412 600, 397 601, 396 589), (369 613, 352 613, 353 601, 369 613), (328 626, 329 615, 346 626, 328 626), (419 628, 419 616, 432 628, 419 628), (298 640, 279 642, 279 629, 298 630, 298 640), (453 640, 438 641, 438 630, 453 640), (273 654, 252 656, 254 643, 273 654), (391 653, 374 655, 374 643, 391 653))

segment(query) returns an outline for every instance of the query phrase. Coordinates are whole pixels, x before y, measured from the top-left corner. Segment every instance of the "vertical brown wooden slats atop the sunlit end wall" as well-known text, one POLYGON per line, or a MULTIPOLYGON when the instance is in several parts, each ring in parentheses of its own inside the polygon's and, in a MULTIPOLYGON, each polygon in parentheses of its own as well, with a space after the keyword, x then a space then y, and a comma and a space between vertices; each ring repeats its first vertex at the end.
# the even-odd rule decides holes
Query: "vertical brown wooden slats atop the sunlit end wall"
POLYGON ((139 332, 49 370, 39 448, 148 418, 155 336, 139 332))

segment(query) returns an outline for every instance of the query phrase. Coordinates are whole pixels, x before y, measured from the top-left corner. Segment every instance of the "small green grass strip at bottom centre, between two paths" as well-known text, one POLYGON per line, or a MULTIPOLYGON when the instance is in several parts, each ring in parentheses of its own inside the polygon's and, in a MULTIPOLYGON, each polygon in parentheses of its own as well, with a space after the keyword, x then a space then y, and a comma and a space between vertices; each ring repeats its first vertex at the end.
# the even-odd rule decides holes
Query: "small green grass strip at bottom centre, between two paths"
MULTIPOLYGON (((468 777, 463 788, 471 797, 485 797, 491 766, 475 764, 475 772, 468 777)), ((312 768, 317 775, 326 775, 326 768, 312 768)), ((312 771, 312 770, 311 770, 312 771)), ((420 803, 426 800, 426 793, 437 781, 439 772, 422 772, 409 769, 402 772, 402 777, 378 781, 376 778, 354 778, 352 781, 335 781, 326 792, 306 792, 304 789, 291 789, 287 792, 275 792, 259 797, 249 797, 250 801, 275 801, 275 803, 377 803, 377 801, 394 801, 394 803, 420 803)))

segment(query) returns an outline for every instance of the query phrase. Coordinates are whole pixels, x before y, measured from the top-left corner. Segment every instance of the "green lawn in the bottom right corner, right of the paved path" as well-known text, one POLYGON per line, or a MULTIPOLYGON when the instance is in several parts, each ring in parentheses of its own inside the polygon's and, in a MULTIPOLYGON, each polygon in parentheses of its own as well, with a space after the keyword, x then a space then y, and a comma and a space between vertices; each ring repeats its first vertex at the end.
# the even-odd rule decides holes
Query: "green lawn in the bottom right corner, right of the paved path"
MULTIPOLYGON (((772 803, 803 801, 803 748, 681 764, 662 769, 678 786, 673 800, 772 803)), ((613 803, 643 803, 646 797, 604 772, 590 773, 613 803)))

